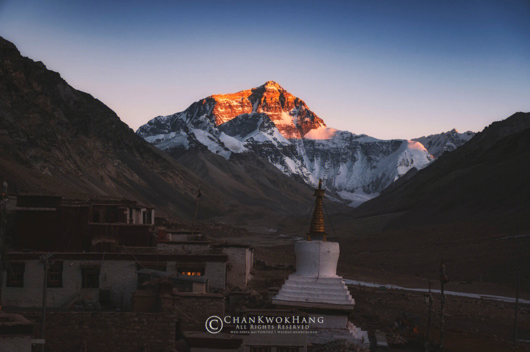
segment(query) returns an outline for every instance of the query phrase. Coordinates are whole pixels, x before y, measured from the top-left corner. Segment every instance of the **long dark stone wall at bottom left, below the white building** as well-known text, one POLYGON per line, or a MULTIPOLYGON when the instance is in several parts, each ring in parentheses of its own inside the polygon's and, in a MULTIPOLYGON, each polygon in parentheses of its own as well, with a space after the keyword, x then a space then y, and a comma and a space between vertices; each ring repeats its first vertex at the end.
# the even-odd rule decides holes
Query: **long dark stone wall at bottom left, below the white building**
MULTIPOLYGON (((39 312, 17 312, 36 323, 40 333, 39 312)), ((46 345, 50 352, 138 352, 146 344, 150 351, 174 351, 174 313, 139 312, 48 312, 46 345)))

